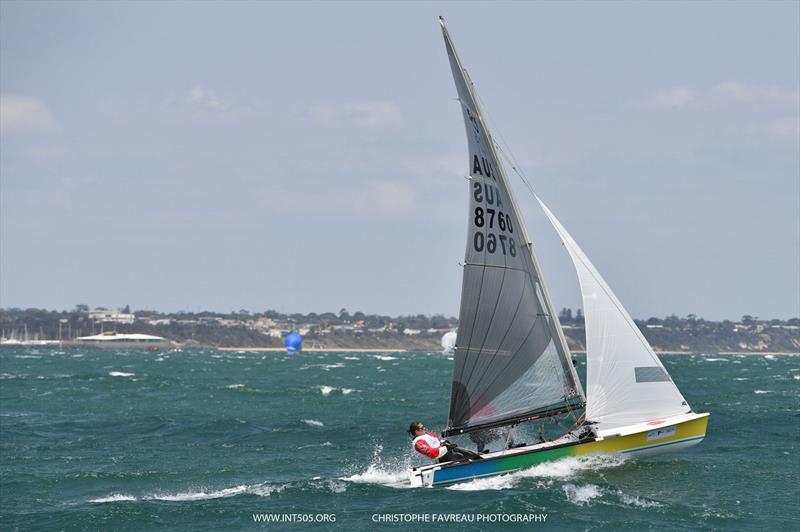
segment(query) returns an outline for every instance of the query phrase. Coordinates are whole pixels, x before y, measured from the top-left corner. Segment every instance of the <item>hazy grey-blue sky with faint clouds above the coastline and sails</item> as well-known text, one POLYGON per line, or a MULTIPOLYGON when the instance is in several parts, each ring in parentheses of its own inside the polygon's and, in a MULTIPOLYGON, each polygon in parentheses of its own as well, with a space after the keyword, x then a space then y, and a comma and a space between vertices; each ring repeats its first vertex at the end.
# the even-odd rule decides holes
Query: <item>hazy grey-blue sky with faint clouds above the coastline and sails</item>
MULTIPOLYGON (((800 316, 800 2, 0 2, 0 307, 458 315, 495 137, 636 318, 800 316)), ((509 172, 556 307, 566 251, 509 172)))

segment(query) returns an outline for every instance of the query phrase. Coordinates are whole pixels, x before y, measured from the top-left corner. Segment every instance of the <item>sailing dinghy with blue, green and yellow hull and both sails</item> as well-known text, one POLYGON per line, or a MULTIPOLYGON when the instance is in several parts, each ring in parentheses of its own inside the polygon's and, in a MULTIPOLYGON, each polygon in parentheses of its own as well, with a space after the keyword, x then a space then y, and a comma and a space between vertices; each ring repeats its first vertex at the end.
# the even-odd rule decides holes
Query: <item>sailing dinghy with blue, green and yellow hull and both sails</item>
POLYGON ((442 435, 480 441, 482 434, 559 415, 572 415, 576 423, 551 441, 415 467, 408 471, 411 485, 508 473, 567 456, 641 456, 699 443, 708 414, 687 404, 605 280, 536 196, 578 273, 586 323, 584 394, 472 82, 444 19, 439 22, 466 125, 470 168, 459 331, 442 435))

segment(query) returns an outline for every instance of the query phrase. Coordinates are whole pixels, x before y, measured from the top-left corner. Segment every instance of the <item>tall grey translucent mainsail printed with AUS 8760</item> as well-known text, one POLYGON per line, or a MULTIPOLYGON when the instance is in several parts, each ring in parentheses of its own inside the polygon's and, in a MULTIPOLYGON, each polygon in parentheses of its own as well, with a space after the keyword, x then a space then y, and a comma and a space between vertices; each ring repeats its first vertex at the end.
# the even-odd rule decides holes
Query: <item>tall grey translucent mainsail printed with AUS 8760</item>
POLYGON ((445 435, 583 406, 584 395, 472 83, 440 18, 469 144, 469 232, 445 435))

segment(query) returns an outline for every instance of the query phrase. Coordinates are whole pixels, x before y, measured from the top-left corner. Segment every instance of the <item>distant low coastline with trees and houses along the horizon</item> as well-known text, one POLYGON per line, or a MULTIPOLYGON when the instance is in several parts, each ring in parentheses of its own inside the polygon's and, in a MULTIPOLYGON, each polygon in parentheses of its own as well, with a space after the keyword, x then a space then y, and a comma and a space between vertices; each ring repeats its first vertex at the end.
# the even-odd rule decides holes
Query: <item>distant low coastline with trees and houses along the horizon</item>
MULTIPOLYGON (((259 319, 270 320, 285 330, 303 327, 307 342, 325 347, 402 347, 438 349, 442 331, 455 329, 458 319, 441 314, 387 316, 350 312, 308 314, 281 313, 275 310, 252 312, 162 313, 135 310, 134 323, 102 323, 89 318, 89 305, 71 310, 0 309, 3 337, 58 339, 75 338, 116 330, 164 336, 171 340, 208 346, 279 346, 279 336, 270 336, 252 326, 259 319)), ((131 313, 128 306, 120 312, 131 313)), ((584 316, 581 309, 564 308, 559 313, 565 336, 574 350, 585 349, 584 316)), ((745 315, 738 321, 710 321, 695 314, 635 320, 636 325, 658 350, 687 352, 719 351, 800 351, 800 318, 762 319, 745 315)))

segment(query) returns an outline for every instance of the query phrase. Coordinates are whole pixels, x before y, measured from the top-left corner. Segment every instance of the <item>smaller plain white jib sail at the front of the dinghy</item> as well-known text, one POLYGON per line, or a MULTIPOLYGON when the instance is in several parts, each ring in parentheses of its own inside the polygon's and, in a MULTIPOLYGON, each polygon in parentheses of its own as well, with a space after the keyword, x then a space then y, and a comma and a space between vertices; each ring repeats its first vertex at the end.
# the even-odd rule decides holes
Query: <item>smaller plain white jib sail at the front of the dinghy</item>
POLYGON ((586 420, 599 429, 691 412, 614 292, 550 209, 536 196, 567 248, 581 284, 586 321, 586 420))

